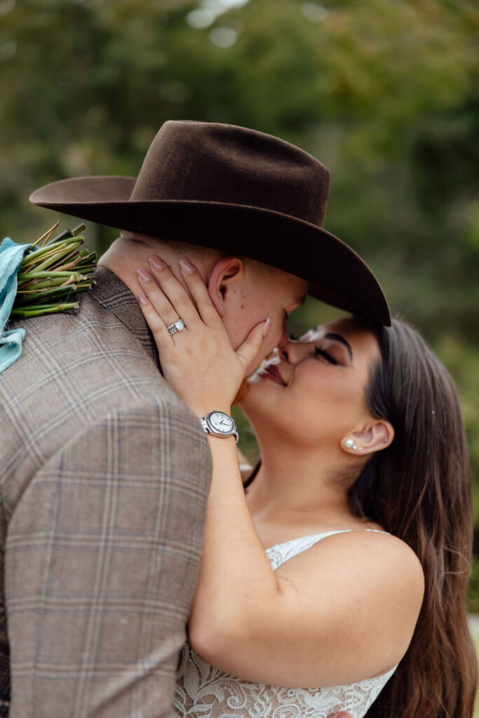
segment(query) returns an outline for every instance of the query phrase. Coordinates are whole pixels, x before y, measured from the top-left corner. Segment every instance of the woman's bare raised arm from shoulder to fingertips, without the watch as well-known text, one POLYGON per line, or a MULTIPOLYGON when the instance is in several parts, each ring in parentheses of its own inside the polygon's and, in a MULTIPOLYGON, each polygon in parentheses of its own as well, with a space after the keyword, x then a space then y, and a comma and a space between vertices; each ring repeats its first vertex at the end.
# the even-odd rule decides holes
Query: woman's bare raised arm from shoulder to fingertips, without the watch
MULTIPOLYGON (((169 270, 157 281, 191 329, 173 341, 161 319, 161 290, 141 287, 157 308, 143 307, 165 376, 197 416, 228 412, 241 371, 199 275, 185 281, 200 314, 169 270), (228 380, 233 375, 236 384, 228 380)), ((257 352, 255 341, 241 348, 241 366, 248 351, 257 352)), ((422 569, 411 549, 394 536, 342 533, 274 572, 246 505, 233 437, 208 441, 213 478, 190 620, 193 648, 233 675, 292 687, 347 684, 394 666, 422 601, 422 569)))

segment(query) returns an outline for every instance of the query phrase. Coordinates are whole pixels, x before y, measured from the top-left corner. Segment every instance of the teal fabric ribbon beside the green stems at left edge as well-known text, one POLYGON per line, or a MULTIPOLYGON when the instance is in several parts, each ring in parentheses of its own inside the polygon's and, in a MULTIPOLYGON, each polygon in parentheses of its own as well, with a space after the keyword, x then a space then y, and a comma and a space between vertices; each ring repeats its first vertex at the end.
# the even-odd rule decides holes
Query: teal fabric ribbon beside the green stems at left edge
POLYGON ((22 354, 25 330, 6 331, 5 327, 17 295, 17 274, 30 246, 16 244, 9 237, 0 244, 0 373, 22 354))

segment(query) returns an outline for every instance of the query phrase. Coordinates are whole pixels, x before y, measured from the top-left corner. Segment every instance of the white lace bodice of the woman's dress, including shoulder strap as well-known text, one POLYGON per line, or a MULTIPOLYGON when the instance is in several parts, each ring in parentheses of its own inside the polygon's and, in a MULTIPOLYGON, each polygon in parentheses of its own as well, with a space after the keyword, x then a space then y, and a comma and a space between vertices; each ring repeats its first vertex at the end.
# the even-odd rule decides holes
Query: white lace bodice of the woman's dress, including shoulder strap
MULTIPOLYGON (((293 538, 266 549, 266 556, 271 567, 277 569, 287 559, 310 549, 332 533, 344 532, 327 531, 293 538)), ((185 643, 177 668, 175 709, 184 718, 327 718, 340 710, 350 712, 353 718, 361 718, 396 668, 348 686, 317 689, 266 686, 243 681, 213 668, 192 650, 190 643, 185 643)))

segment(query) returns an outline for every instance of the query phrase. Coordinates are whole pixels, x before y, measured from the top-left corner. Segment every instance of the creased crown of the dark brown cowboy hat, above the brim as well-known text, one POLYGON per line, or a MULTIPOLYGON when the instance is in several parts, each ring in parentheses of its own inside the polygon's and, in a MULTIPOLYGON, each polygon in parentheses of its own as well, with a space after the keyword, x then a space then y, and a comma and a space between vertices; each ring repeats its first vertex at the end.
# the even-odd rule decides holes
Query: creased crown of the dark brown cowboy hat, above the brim
POLYGON ((248 205, 322 227, 329 172, 277 137, 235 125, 165 122, 130 201, 189 200, 248 205))

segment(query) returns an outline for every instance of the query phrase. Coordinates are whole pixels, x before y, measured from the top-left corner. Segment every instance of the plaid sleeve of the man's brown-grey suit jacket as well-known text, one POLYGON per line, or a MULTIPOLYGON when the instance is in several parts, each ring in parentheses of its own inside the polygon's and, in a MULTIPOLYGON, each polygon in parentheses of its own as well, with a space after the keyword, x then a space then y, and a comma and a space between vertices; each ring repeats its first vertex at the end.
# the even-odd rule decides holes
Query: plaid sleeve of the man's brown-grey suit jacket
POLYGON ((45 462, 6 537, 11 718, 172 715, 210 475, 199 421, 161 397, 45 462))

